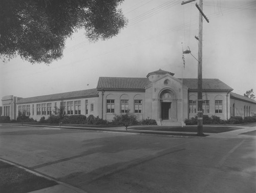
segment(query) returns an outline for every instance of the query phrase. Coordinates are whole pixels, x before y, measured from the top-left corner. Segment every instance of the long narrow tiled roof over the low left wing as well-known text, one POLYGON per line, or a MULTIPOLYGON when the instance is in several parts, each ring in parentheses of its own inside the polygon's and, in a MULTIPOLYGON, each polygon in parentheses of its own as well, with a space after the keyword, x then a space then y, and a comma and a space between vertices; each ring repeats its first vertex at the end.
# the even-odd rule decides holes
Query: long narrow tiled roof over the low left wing
POLYGON ((82 98, 82 97, 95 97, 98 96, 97 89, 89 89, 82 91, 73 91, 67 93, 58 93, 52 95, 36 96, 29 98, 20 98, 17 103, 28 103, 28 102, 40 102, 40 101, 51 101, 51 100, 61 100, 69 98, 82 98))

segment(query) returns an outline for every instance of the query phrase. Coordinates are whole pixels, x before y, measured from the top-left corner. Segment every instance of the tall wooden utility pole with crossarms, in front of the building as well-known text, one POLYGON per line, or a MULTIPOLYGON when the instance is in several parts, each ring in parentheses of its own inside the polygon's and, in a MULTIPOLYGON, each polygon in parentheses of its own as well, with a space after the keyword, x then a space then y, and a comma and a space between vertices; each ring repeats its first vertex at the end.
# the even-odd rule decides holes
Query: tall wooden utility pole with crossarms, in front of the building
MULTIPOLYGON (((186 3, 194 2, 196 0, 189 0, 187 2, 182 2, 181 5, 186 3)), ((202 136, 203 134, 203 80, 202 80, 202 55, 203 55, 203 17, 209 23, 208 18, 203 13, 203 0, 199 1, 199 5, 196 4, 199 10, 199 35, 198 35, 198 88, 197 88, 197 135, 202 136)))

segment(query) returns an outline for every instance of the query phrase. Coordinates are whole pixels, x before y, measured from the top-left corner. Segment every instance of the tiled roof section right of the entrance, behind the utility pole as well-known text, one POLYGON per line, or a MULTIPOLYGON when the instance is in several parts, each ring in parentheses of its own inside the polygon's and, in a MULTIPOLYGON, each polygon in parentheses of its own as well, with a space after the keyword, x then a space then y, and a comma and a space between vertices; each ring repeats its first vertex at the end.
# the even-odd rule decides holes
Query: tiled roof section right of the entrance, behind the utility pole
MULTIPOLYGON (((181 78, 179 78, 181 80, 181 78)), ((189 90, 197 90, 197 78, 183 78, 183 84, 189 90)), ((203 90, 209 91, 232 91, 233 89, 219 79, 203 79, 203 90)))

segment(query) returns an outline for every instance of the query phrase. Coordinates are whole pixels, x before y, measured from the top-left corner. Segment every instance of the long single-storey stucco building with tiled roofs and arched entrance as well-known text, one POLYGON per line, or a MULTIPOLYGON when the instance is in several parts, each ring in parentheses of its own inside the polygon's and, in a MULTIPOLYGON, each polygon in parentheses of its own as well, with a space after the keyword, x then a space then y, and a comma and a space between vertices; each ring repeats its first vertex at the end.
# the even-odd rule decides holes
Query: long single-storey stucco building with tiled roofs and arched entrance
MULTIPOLYGON (((255 100, 232 90, 219 79, 203 79, 203 114, 229 119, 256 113, 255 100)), ((151 118, 161 125, 179 125, 197 115, 197 79, 176 78, 161 69, 144 78, 99 77, 96 89, 29 98, 5 96, 2 116, 16 119, 18 112, 23 112, 40 120, 48 118, 61 102, 67 115, 94 115, 111 121, 130 110, 138 120, 151 118)))

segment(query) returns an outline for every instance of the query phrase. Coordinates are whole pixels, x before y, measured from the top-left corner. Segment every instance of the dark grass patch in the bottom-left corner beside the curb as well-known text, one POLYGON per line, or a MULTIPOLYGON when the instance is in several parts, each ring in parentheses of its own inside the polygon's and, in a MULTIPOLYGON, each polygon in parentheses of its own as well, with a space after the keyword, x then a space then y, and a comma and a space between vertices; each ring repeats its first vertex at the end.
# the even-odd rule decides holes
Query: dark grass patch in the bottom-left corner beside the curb
POLYGON ((57 185, 55 181, 36 176, 14 165, 0 161, 0 192, 23 193, 57 185))

